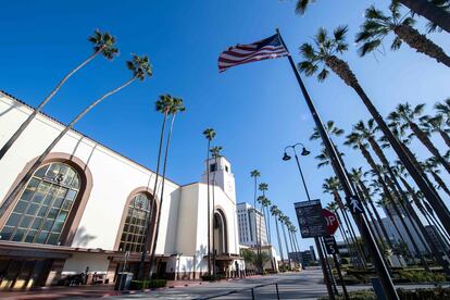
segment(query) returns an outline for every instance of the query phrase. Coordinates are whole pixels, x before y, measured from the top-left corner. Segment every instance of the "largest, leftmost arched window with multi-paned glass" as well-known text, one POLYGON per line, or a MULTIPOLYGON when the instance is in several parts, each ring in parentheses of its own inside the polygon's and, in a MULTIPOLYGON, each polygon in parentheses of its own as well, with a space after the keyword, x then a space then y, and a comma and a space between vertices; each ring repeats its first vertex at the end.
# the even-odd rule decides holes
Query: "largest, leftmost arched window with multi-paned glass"
POLYGON ((1 229, 2 240, 59 245, 80 178, 61 162, 35 172, 1 229))

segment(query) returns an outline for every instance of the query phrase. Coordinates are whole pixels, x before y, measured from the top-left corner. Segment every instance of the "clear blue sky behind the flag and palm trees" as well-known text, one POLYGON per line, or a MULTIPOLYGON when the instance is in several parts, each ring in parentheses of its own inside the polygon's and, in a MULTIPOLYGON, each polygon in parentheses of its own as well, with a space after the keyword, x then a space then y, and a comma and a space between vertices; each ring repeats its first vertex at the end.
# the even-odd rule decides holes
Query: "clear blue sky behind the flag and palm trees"
MULTIPOLYGON (((129 77, 125 61, 130 53, 147 53, 154 76, 115 95, 76 128, 154 168, 161 123, 154 101, 161 93, 182 97, 187 111, 175 124, 168 176, 179 184, 199 180, 207 146, 201 133, 213 127, 214 145, 223 146, 233 164, 238 201, 252 201, 249 173, 258 168, 270 186, 268 198, 297 224, 292 203, 305 200, 305 195, 293 161, 280 160, 284 147, 302 141, 312 151, 302 164, 312 197, 324 205, 332 198, 322 192, 322 183, 332 172, 316 168, 318 142, 309 141, 313 122, 288 61, 252 63, 218 74, 217 57, 229 46, 268 37, 279 27, 298 62, 298 47, 320 26, 348 24, 350 49, 343 58, 382 114, 401 101, 425 102, 430 111, 449 96, 446 66, 407 46, 390 52, 386 43, 385 53, 357 55, 353 37, 364 9, 374 2, 322 0, 300 17, 293 13, 293 0, 8 1, 0 18, 0 88, 36 105, 65 72, 91 53, 87 37, 92 30, 109 30, 117 38, 121 55, 113 62, 96 59, 70 79, 45 112, 68 122, 129 77)), ((388 3, 376 1, 380 9, 388 3)), ((423 30, 423 22, 417 28, 423 30)), ((446 34, 429 37, 450 51, 446 34)), ((324 121, 334 120, 349 132, 368 116, 357 95, 336 76, 324 84, 307 78, 305 84, 324 121)), ((434 140, 446 150, 438 137, 434 140)), ((359 153, 341 149, 349 166, 366 168, 359 153)), ((417 143, 413 150, 421 158, 428 155, 417 143)), ((313 243, 300 241, 302 248, 313 243)))

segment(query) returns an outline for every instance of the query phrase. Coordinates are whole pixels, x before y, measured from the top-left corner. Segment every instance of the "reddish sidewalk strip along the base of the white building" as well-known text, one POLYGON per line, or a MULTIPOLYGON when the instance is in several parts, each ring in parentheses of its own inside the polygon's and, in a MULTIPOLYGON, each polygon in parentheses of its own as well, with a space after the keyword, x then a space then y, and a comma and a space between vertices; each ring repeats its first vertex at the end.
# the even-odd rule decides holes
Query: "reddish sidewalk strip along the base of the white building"
MULTIPOLYGON (((255 278, 261 275, 247 276, 247 278, 255 278)), ((234 282, 245 278, 228 278, 220 282, 234 282)), ((208 285, 209 282, 201 280, 168 280, 167 286, 160 289, 167 288, 178 288, 178 287, 188 287, 188 286, 200 286, 208 285)), ((150 289, 145 290, 150 291, 150 289)), ((89 285, 89 286, 75 286, 75 287, 41 287, 33 288, 30 290, 7 290, 0 291, 0 299, 17 299, 17 300, 27 300, 27 299, 60 299, 66 297, 83 297, 83 298, 102 298, 109 296, 120 296, 122 293, 137 293, 141 290, 130 290, 125 292, 120 292, 114 290, 113 285, 89 285)))

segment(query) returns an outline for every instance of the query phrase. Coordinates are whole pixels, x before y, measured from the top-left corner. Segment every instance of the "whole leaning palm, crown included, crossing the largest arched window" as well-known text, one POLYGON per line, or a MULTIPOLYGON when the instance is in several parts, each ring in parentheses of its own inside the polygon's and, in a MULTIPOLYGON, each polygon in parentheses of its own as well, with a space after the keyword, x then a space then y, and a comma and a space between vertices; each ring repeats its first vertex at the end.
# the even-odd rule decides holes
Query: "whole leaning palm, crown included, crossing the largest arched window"
POLYGON ((77 124, 78 121, 83 118, 83 116, 85 116, 90 110, 97 107, 104 99, 122 90, 126 86, 130 85, 133 82, 143 80, 147 76, 151 76, 151 65, 149 63, 149 59, 146 55, 143 57, 134 55, 133 61, 127 62, 127 66, 133 72, 132 78, 126 80, 121 86, 114 88, 113 90, 104 93, 99 99, 95 100, 93 102, 91 102, 84 111, 82 111, 74 120, 72 120, 67 126, 64 127, 64 129, 58 135, 58 137, 53 139, 53 141, 47 147, 47 149, 40 154, 40 157, 33 163, 32 167, 27 171, 27 173, 22 177, 22 179, 14 187, 14 189, 11 191, 8 198, 3 201, 3 203, 0 207, 0 216, 3 215, 5 210, 11 205, 12 201, 23 190, 25 185, 32 178, 33 174, 40 166, 40 164, 43 162, 43 160, 47 158, 50 151, 54 148, 54 146, 57 146, 57 143, 64 137, 64 135, 68 130, 71 130, 75 126, 75 124, 77 124))

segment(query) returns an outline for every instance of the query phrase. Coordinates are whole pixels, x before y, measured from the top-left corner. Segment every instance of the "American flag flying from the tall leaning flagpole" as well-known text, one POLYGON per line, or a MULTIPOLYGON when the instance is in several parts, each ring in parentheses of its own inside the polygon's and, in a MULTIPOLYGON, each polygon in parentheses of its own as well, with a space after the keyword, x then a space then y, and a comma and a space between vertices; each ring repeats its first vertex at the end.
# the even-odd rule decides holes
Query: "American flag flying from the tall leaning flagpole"
POLYGON ((289 55, 289 52, 283 46, 279 35, 275 34, 253 43, 229 47, 218 57, 218 72, 224 72, 228 67, 238 64, 287 55, 289 55))

